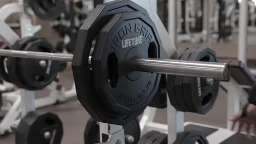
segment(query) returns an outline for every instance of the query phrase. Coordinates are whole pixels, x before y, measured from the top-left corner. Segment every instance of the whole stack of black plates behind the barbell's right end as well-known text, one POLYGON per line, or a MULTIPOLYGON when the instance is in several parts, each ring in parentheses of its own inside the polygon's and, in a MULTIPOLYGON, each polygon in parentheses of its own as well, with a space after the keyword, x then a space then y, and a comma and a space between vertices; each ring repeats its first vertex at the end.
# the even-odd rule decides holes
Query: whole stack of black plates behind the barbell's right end
MULTIPOLYGON (((216 53, 208 48, 179 49, 177 59, 184 61, 218 62, 216 53)), ((217 99, 219 80, 168 75, 170 102, 178 111, 206 114, 217 99)))

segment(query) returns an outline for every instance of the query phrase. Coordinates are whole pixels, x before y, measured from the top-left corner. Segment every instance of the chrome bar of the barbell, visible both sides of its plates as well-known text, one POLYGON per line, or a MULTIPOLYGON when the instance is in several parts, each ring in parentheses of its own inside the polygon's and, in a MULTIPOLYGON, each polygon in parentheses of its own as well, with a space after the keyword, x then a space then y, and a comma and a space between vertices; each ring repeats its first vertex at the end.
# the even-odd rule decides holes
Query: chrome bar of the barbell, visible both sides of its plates
MULTIPOLYGON (((0 50, 0 56, 67 62, 72 62, 73 60, 73 55, 71 54, 16 50, 0 50)), ((91 57, 89 57, 89 63, 91 63, 91 57)), ((131 69, 134 71, 207 77, 219 80, 228 80, 231 73, 230 67, 226 63, 179 61, 159 58, 135 58, 131 60, 130 64, 131 69)))

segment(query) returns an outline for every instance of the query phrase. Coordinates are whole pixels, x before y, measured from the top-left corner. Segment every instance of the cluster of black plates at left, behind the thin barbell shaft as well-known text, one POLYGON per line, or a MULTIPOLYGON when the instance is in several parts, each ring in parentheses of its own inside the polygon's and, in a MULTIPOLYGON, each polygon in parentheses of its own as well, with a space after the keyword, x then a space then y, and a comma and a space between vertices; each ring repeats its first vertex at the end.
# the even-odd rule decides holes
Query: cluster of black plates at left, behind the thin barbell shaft
MULTIPOLYGON (((34 37, 19 40, 12 48, 25 51, 56 52, 48 41, 34 37)), ((59 62, 41 59, 8 58, 7 65, 10 80, 16 86, 34 91, 45 88, 55 79, 59 62)))

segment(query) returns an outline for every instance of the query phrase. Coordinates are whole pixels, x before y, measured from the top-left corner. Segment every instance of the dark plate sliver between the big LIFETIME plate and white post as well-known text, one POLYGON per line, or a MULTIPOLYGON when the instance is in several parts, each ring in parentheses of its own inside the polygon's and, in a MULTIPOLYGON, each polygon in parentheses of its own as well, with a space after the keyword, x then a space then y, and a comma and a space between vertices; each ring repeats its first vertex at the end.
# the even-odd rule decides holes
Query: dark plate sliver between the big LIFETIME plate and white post
POLYGON ((150 107, 165 109, 167 107, 166 75, 161 76, 158 92, 149 104, 150 107))

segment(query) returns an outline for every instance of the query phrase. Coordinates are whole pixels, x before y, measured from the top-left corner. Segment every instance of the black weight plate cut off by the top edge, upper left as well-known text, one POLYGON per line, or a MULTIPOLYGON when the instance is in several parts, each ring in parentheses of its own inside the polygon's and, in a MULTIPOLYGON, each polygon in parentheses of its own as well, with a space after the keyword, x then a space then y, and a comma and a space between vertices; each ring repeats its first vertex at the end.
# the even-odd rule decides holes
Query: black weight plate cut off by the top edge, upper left
POLYGON ((28 4, 42 20, 55 20, 65 11, 63 0, 28 0, 28 4))

